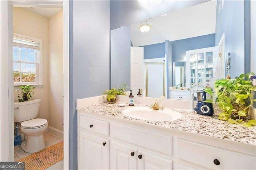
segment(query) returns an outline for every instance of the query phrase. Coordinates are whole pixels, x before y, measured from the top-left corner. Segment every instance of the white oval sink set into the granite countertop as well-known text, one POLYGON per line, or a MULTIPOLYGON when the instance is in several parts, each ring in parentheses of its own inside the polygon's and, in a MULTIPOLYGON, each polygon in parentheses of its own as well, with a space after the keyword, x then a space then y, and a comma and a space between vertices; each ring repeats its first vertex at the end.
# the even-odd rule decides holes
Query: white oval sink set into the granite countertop
POLYGON ((179 112, 173 110, 164 109, 159 111, 143 106, 130 107, 124 109, 122 113, 126 116, 146 121, 174 121, 182 117, 179 112))

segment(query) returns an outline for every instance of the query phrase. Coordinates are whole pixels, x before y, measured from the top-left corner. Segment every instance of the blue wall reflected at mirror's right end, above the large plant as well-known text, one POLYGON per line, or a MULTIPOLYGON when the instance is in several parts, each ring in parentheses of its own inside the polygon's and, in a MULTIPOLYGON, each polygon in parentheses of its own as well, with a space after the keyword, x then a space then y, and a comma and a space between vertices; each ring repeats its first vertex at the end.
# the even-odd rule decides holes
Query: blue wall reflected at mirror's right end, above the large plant
POLYGON ((217 2, 215 45, 225 33, 225 52, 230 52, 230 76, 244 73, 244 1, 225 1, 219 14, 217 2))

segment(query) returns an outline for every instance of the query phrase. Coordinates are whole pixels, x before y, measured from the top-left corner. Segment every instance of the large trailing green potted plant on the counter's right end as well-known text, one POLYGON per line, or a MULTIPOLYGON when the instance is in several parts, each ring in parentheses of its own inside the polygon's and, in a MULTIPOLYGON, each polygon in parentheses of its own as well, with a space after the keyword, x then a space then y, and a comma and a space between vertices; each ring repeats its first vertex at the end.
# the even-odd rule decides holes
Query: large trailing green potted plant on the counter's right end
MULTIPOLYGON (((252 75, 254 73, 241 74, 235 79, 220 79, 214 83, 217 90, 216 105, 223 111, 219 114, 220 120, 234 124, 242 123, 247 127, 256 125, 256 121, 250 120, 248 114, 249 106, 255 101, 251 91, 256 87, 249 80, 252 75)), ((205 91, 212 95, 209 89, 205 91)))

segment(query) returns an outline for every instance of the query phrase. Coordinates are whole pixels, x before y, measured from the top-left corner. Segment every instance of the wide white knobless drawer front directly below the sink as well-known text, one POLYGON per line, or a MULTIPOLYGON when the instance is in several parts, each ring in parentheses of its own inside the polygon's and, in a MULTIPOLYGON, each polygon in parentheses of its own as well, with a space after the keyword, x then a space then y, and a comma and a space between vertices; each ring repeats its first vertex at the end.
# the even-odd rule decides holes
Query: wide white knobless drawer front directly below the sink
POLYGON ((136 128, 110 123, 110 136, 172 155, 172 136, 156 134, 136 128))

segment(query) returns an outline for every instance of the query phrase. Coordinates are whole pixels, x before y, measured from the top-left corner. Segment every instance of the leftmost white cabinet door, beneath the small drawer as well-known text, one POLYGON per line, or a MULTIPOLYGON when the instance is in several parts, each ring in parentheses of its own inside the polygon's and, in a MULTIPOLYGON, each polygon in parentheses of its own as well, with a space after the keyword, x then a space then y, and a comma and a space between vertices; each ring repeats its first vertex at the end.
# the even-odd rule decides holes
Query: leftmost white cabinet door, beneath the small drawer
POLYGON ((80 131, 79 169, 109 169, 109 140, 80 131))

